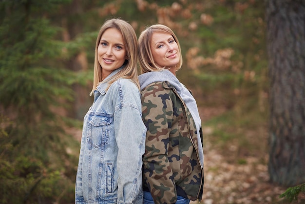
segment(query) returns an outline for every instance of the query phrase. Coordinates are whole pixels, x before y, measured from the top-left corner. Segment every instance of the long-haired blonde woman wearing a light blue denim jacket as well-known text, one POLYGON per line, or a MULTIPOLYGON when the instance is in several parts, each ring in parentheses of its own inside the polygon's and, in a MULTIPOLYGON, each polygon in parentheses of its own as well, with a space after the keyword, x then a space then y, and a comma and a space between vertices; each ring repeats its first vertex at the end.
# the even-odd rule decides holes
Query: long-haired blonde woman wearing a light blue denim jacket
POLYGON ((76 174, 76 204, 142 204, 141 118, 133 27, 106 21, 95 46, 94 102, 84 117, 76 174))

